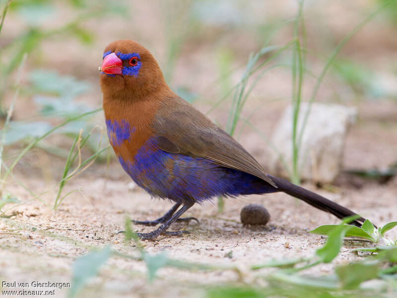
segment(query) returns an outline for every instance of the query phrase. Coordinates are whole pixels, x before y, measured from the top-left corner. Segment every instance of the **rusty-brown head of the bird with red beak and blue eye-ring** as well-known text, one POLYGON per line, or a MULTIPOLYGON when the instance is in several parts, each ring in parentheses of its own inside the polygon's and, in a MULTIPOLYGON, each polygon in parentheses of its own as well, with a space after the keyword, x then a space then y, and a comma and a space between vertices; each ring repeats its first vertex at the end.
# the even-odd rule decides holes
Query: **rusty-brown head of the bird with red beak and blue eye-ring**
POLYGON ((118 40, 104 51, 99 68, 101 88, 105 96, 139 100, 159 88, 166 87, 163 73, 152 54, 132 40, 118 40))

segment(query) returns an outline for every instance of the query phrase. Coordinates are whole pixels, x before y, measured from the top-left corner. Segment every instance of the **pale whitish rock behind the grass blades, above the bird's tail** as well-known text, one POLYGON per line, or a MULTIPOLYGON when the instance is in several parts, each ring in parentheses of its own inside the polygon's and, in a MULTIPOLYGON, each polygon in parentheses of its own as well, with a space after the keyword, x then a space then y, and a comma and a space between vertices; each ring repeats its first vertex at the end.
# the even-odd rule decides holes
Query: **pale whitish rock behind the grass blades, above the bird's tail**
MULTIPOLYGON (((308 106, 306 102, 300 106, 298 137, 308 106)), ((291 105, 287 107, 272 134, 271 145, 277 152, 272 150, 266 164, 269 172, 284 177, 288 172, 283 164, 292 171, 292 111, 291 105)), ((340 170, 347 128, 354 123, 356 114, 355 108, 313 103, 299 149, 298 171, 302 179, 333 181, 340 170)))

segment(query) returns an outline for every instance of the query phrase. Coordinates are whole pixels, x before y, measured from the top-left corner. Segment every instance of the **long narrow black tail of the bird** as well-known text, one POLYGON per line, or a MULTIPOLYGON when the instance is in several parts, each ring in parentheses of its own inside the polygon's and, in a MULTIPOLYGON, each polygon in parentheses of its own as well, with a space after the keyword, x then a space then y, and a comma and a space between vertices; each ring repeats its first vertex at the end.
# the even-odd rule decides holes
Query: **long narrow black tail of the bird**
MULTIPOLYGON (((299 200, 302 200, 317 209, 323 210, 325 212, 329 212, 336 216, 338 219, 343 219, 348 216, 356 215, 353 211, 336 204, 310 190, 307 190, 303 187, 292 184, 286 180, 283 180, 278 177, 274 177, 268 175, 269 178, 274 182, 274 184, 278 187, 278 189, 282 192, 285 192, 299 200)), ((365 219, 360 217, 354 220, 351 224, 355 224, 357 226, 361 226, 362 223, 365 222, 365 219)))

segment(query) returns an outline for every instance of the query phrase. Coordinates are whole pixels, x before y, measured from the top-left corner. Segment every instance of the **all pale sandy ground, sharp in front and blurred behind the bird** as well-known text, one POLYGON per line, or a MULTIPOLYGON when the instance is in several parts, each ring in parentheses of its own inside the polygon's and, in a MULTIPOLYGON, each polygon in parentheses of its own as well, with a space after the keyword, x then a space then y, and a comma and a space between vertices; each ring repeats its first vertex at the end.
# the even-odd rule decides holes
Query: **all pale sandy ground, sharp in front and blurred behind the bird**
MULTIPOLYGON (((264 22, 271 20, 272 14, 284 19, 295 15, 296 6, 291 5, 291 1, 277 3, 280 7, 278 4, 274 7, 266 6, 264 22)), ((339 41, 363 19, 360 9, 367 11, 370 4, 368 1, 357 1, 358 4, 345 6, 342 4, 345 1, 340 1, 338 5, 330 7, 324 6, 325 2, 321 3, 321 7, 316 8, 312 3, 307 9, 308 37, 310 43, 313 43, 309 47, 321 53, 328 53, 336 45, 335 41, 339 41), (361 8, 356 9, 355 5, 361 8), (311 13, 312 10, 316 11, 311 13), (345 18, 341 18, 341 15, 345 18), (319 41, 316 36, 324 36, 321 37, 324 40, 320 39, 320 46, 315 43, 319 41), (327 39, 328 36, 332 36, 334 40, 327 39)), ((119 17, 109 18, 107 22, 88 22, 86 26, 96 32, 95 44, 92 47, 81 46, 74 40, 47 41, 40 49, 41 56, 45 59, 29 59, 27 68, 59 68, 61 74, 71 74, 89 80, 93 86, 92 92, 80 96, 78 100, 92 107, 100 106, 101 93, 97 69, 102 49, 110 41, 119 38, 138 40, 150 48, 161 67, 166 65, 166 36, 161 22, 161 7, 153 3, 138 4, 135 7, 131 5, 131 9, 136 11, 131 19, 119 17), (152 9, 153 7, 156 8, 152 9), (150 19, 152 24, 142 26, 147 19, 150 19), (93 48, 96 49, 95 52, 93 48), (61 52, 63 55, 54 55, 61 52), (98 58, 91 59, 93 55, 98 58), (89 59, 85 59, 86 57, 89 59)), ((63 17, 70 16, 70 12, 65 10, 63 17)), ((262 20, 262 16, 259 18, 262 20)), ((2 32, 5 41, 12 39, 14 32, 23 30, 20 20, 12 15, 9 19, 10 21, 4 23, 2 32)), ((65 20, 57 19, 57 22, 63 21, 65 20)), ((284 44, 290 36, 291 31, 281 30, 274 42, 284 44)), ((248 54, 260 48, 256 38, 254 33, 247 33, 238 28, 210 28, 200 32, 199 36, 195 36, 181 49, 173 84, 189 86, 199 93, 202 100, 196 105, 201 111, 208 111, 216 99, 220 98, 220 92, 213 87, 218 77, 215 69, 216 51, 222 48, 223 44, 230 45, 233 59, 236 59, 240 66, 244 66, 248 54)), ((396 61, 396 44, 397 37, 391 27, 374 22, 360 31, 343 49, 341 55, 350 55, 351 59, 365 64, 374 72, 382 72, 384 69, 389 71, 391 61, 396 61)), ((321 70, 319 63, 323 65, 322 61, 311 61, 310 66, 316 71, 321 70)), ((244 68, 241 67, 233 72, 231 81, 236 82, 243 71, 244 68)), ((249 104, 244 108, 244 117, 257 111, 251 121, 268 136, 288 103, 291 94, 289 79, 288 70, 275 69, 271 74, 265 75, 261 84, 251 94, 249 104), (287 100, 270 102, 274 98, 287 100)), ((307 79, 303 88, 304 98, 309 97, 314 83, 310 78, 307 79)), ((397 159, 396 101, 383 98, 371 101, 355 96, 345 83, 332 76, 327 77, 318 96, 318 99, 324 102, 336 101, 358 108, 358 121, 351 127, 346 139, 343 168, 386 167, 397 159)), ((8 102, 10 98, 11 96, 8 102)), ((29 100, 18 101, 15 105, 14 119, 31 117, 32 107, 33 104, 29 100)), ((224 125, 227 115, 228 106, 225 104, 211 112, 209 117, 224 125)), ((101 116, 98 117, 97 123, 104 123, 101 116)), ((266 168, 268 148, 265 142, 247 127, 238 140, 266 168)), ((53 140, 55 143, 59 141, 59 138, 53 140)), ((61 143, 70 146, 69 142, 61 143)), ((11 148, 7 151, 7 160, 12 160, 15 152, 19 152, 19 149, 11 148)), ((21 160, 14 174, 31 191, 41 193, 60 180, 63 162, 40 149, 35 149, 21 160)), ((6 210, 5 214, 10 218, 0 218, 0 281, 70 282, 71 266, 75 258, 92 248, 111 245, 118 251, 135 254, 133 244, 125 243, 122 234, 116 235, 117 231, 124 228, 126 215, 137 220, 156 219, 171 208, 172 204, 153 200, 138 188, 130 190, 130 182, 128 175, 115 159, 109 168, 105 164, 94 164, 67 183, 64 194, 73 190, 81 191, 66 197, 60 208, 54 211, 52 206, 57 188, 42 195, 42 201, 31 201, 32 196, 27 191, 9 180, 7 191, 25 204, 17 207, 5 206, 3 210, 6 210)), ((379 184, 341 174, 333 185, 327 185, 323 189, 317 189, 308 182, 304 183, 304 187, 360 213, 376 224, 382 225, 397 220, 397 178, 386 184, 379 184)), ((217 213, 216 204, 208 203, 195 206, 187 212, 187 216, 197 217, 200 223, 192 222, 186 227, 173 224, 171 229, 186 228, 192 232, 191 234, 181 238, 160 236, 155 241, 144 241, 145 249, 150 253, 166 251, 170 257, 178 260, 237 266, 243 272, 242 276, 232 271, 204 273, 165 268, 159 270, 158 279, 153 284, 148 284, 145 265, 142 262, 112 257, 101 269, 98 277, 90 281, 81 297, 202 297, 205 287, 222 282, 243 284, 255 281, 262 285, 263 282, 256 275, 264 275, 271 269, 253 273, 248 270, 251 265, 265 263, 273 258, 311 256, 322 246, 325 238, 313 235, 309 231, 321 224, 338 223, 331 215, 285 194, 226 199, 222 214, 217 213), (271 219, 266 226, 249 227, 240 223, 240 210, 249 203, 263 204, 267 208, 271 219), (232 257, 226 257, 225 254, 230 251, 232 257)), ((134 228, 143 232, 152 229, 140 226, 134 228)), ((396 235, 397 232, 390 232, 390 236, 396 235)), ((362 258, 350 250, 352 247, 365 245, 369 244, 346 241, 341 253, 331 264, 317 266, 312 272, 330 273, 338 264, 362 258)), ((66 290, 56 289, 55 294, 56 297, 63 297, 66 290)))

